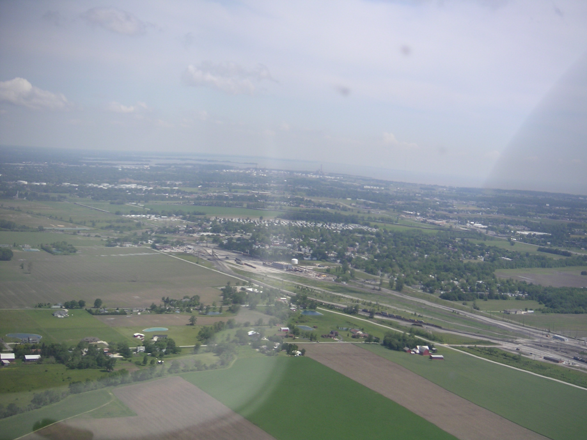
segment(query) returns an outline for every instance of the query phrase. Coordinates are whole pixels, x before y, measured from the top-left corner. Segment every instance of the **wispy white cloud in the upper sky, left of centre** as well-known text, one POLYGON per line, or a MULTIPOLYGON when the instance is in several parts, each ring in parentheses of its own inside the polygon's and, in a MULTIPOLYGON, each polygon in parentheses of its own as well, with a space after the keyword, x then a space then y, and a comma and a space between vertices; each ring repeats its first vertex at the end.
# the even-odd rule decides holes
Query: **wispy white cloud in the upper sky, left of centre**
POLYGON ((262 65, 247 70, 236 63, 210 61, 188 66, 183 75, 183 80, 188 86, 211 87, 230 94, 253 94, 257 90, 255 84, 266 79, 271 80, 271 74, 269 69, 262 65))

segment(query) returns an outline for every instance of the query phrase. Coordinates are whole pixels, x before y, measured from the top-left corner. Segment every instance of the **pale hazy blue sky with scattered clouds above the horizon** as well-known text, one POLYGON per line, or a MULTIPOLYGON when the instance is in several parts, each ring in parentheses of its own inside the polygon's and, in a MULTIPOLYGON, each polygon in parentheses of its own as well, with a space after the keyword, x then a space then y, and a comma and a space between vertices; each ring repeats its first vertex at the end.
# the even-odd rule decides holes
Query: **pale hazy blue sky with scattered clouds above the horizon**
POLYGON ((0 144, 587 194, 586 53, 585 1, 0 0, 0 144))

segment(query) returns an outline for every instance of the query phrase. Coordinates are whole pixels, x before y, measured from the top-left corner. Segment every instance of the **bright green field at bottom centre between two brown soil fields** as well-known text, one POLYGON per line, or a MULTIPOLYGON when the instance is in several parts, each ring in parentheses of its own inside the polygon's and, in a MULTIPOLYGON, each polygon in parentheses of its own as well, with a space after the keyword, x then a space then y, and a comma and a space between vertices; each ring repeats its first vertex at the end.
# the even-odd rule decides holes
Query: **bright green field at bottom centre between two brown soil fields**
POLYGON ((279 440, 454 438, 306 357, 239 359, 183 377, 279 440))

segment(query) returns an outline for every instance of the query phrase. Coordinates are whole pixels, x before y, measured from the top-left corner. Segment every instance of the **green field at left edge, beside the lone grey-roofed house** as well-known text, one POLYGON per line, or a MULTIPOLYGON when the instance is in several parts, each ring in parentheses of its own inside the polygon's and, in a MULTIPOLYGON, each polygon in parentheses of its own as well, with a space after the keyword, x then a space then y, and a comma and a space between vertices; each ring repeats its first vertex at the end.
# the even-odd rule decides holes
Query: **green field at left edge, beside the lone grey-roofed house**
MULTIPOLYGON (((6 341, 12 341, 5 336, 7 333, 35 333, 43 337, 42 342, 48 343, 77 344, 86 336, 99 337, 107 342, 133 342, 132 333, 123 336, 85 310, 69 310, 69 316, 66 318, 56 318, 52 315, 53 311, 50 309, 0 310, 0 337, 4 337, 6 341)), ((14 339, 14 341, 18 340, 14 339)))

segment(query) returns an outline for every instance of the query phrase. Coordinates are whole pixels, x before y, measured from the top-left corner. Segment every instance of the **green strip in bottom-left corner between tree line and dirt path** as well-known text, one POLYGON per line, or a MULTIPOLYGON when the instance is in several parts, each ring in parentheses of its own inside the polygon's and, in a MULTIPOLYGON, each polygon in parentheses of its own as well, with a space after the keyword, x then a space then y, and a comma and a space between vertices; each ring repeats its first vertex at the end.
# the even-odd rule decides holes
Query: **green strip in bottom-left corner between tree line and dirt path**
POLYGON ((0 419, 0 440, 12 440, 32 431, 36 421, 62 420, 107 404, 113 396, 106 388, 73 394, 56 404, 0 419))

